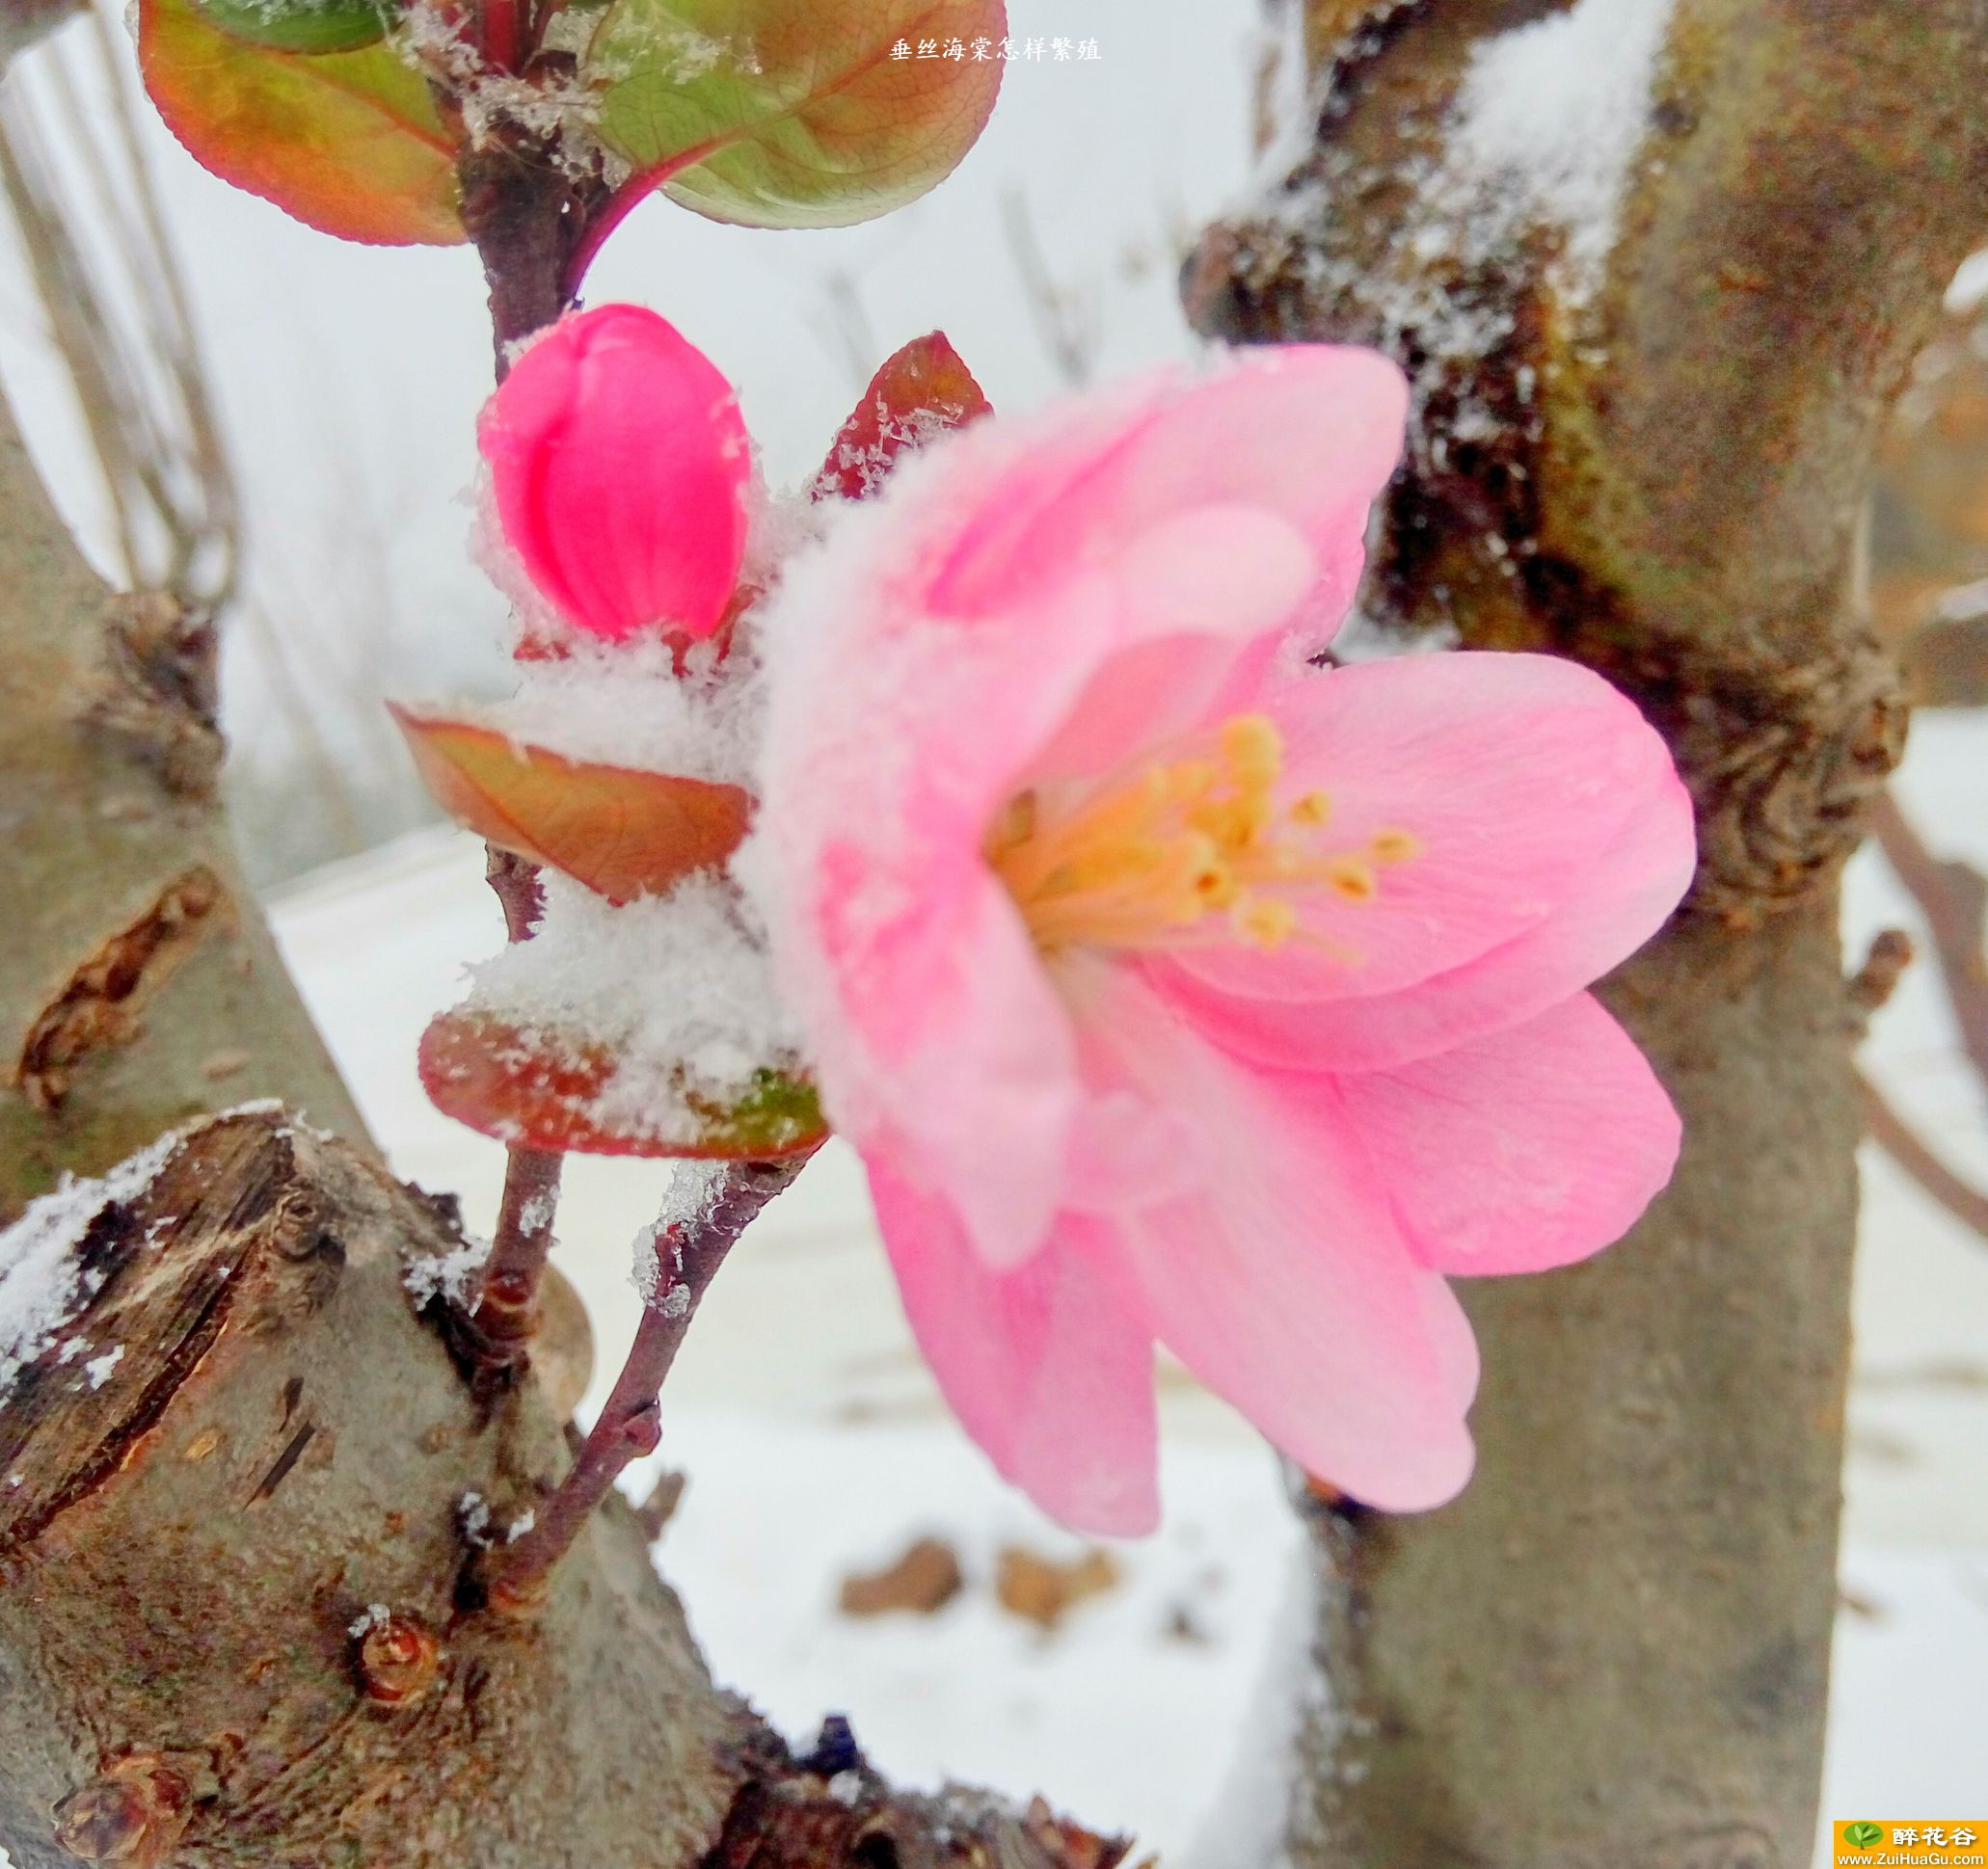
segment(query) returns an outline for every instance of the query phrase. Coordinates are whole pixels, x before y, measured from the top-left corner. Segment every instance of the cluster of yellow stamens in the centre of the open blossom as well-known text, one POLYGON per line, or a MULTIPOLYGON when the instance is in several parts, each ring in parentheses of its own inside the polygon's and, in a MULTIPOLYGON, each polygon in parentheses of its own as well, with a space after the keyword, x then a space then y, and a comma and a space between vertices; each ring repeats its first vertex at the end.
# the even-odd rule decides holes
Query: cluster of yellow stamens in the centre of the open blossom
POLYGON ((1364 851, 1324 849, 1332 799, 1304 791, 1284 803, 1282 775, 1276 724, 1241 714, 1183 758, 1095 785, 1016 793, 988 825, 986 859, 1044 952, 1296 940, 1358 964, 1304 925, 1306 897, 1368 903, 1378 869, 1421 845, 1390 827, 1364 851))

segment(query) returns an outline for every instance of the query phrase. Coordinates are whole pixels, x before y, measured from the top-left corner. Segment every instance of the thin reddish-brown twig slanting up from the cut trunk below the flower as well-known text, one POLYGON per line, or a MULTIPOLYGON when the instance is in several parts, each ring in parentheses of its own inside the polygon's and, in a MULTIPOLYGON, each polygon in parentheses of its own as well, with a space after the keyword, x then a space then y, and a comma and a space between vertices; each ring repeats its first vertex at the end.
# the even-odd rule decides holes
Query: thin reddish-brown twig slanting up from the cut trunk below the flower
POLYGON ((662 1384, 706 1288, 759 1209, 799 1171, 801 1161, 742 1161, 724 1173, 694 1221, 658 1237, 656 1290, 642 1310, 628 1362, 600 1420, 580 1445, 573 1471, 535 1515, 531 1531, 493 1561, 489 1601, 497 1609, 531 1611, 541 1603, 553 1565, 573 1547, 622 1469, 656 1449, 662 1438, 662 1384))

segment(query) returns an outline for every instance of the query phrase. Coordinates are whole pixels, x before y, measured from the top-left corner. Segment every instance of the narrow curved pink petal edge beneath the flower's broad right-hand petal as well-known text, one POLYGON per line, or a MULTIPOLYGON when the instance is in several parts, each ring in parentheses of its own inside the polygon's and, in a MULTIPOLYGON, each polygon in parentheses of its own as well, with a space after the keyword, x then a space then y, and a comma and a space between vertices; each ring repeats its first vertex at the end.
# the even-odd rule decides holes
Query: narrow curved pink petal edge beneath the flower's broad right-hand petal
POLYGON ((1672 779, 1547 921, 1435 978, 1366 998, 1296 1002, 1233 994, 1167 960, 1147 972, 1225 1050, 1292 1070, 1384 1070, 1525 1024, 1620 966, 1670 921, 1696 861, 1692 799, 1672 779))

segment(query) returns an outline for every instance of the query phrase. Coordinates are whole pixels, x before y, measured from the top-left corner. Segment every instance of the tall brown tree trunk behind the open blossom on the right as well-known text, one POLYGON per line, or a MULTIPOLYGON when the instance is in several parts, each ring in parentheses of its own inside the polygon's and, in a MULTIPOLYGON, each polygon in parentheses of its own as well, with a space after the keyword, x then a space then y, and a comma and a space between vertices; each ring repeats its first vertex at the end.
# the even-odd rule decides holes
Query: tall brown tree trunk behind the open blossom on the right
POLYGON ((1801 1869, 1859 1133, 1835 877, 1901 738, 1853 545, 1978 233, 1988 26, 1976 0, 1678 0, 1576 300, 1551 227, 1473 243, 1435 183, 1475 50, 1559 10, 1312 0, 1312 147, 1187 274, 1205 330, 1404 362, 1370 614, 1598 668, 1672 740, 1702 831, 1680 919, 1608 986, 1684 1111, 1676 1183, 1594 1265, 1467 1292, 1457 1505, 1310 1509, 1326 1692, 1292 1851, 1801 1869))

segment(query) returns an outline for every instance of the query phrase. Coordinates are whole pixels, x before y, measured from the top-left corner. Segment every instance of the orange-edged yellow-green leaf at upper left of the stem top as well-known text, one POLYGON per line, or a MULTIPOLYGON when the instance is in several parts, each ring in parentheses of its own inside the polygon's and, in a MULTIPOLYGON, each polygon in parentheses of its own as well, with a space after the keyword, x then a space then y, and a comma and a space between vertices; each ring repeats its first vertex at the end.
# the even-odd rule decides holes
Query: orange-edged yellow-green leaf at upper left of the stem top
POLYGON ((137 50, 167 129, 223 181, 346 241, 463 239, 453 139, 392 46, 276 52, 191 0, 139 0, 137 50))

